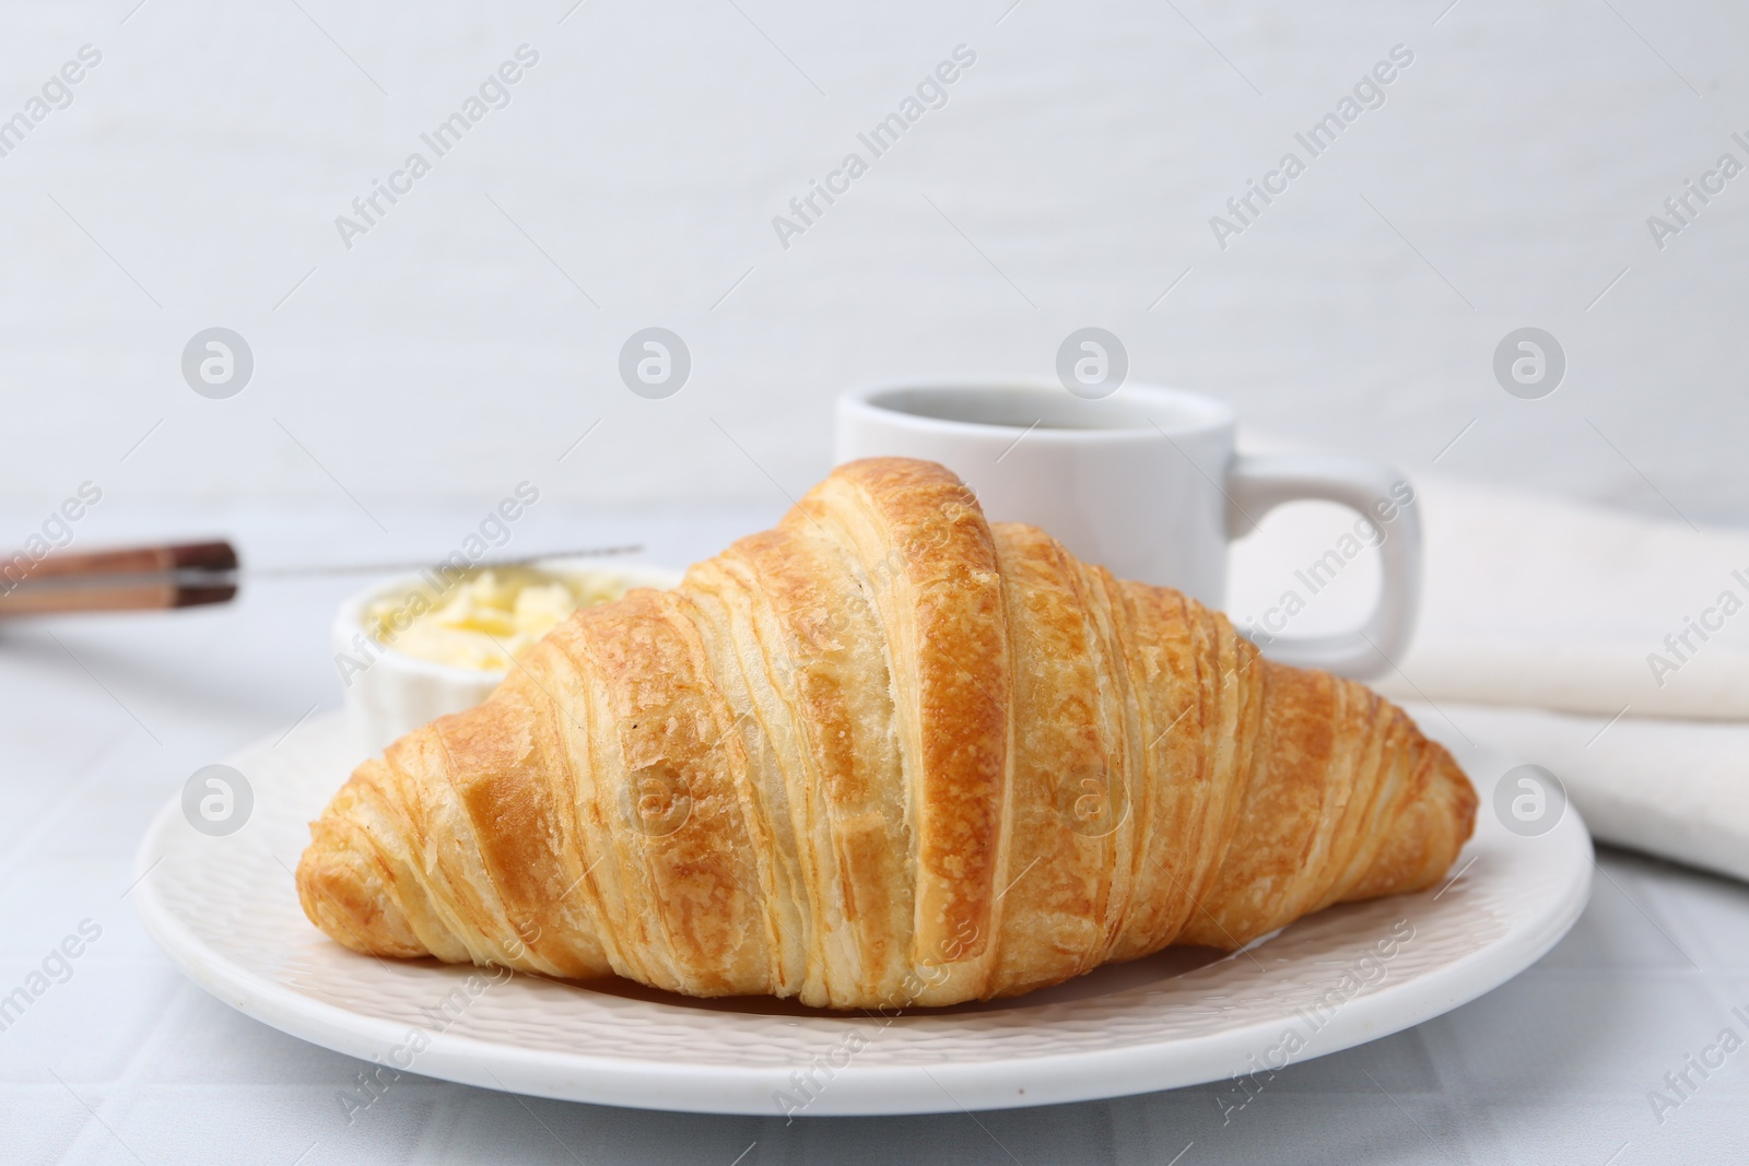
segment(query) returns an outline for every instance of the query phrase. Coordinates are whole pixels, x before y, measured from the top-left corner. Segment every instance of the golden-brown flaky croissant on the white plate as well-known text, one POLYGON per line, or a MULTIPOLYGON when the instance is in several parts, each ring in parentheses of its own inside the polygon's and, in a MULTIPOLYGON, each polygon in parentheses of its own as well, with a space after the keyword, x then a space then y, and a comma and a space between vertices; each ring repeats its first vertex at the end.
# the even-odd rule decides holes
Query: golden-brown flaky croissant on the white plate
POLYGON ((1474 811, 1364 685, 873 458, 359 766, 297 893, 374 956, 948 1005, 1427 888, 1474 811))

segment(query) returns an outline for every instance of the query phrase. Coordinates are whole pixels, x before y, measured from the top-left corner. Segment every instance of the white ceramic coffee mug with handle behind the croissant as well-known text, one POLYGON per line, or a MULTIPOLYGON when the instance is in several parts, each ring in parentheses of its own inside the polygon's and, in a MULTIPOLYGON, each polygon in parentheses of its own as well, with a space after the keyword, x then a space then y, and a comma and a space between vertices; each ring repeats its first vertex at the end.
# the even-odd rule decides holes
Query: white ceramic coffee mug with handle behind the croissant
POLYGON ((1172 388, 1125 385, 1086 400, 1056 385, 904 381, 840 397, 838 460, 941 462, 992 523, 1032 523, 1119 579, 1177 587, 1214 608, 1226 598, 1228 540, 1284 502, 1338 502, 1376 531, 1383 587, 1371 615, 1327 636, 1242 631, 1287 664, 1355 678, 1387 671, 1420 600, 1413 489, 1362 458, 1240 456, 1235 428, 1228 406, 1172 388))

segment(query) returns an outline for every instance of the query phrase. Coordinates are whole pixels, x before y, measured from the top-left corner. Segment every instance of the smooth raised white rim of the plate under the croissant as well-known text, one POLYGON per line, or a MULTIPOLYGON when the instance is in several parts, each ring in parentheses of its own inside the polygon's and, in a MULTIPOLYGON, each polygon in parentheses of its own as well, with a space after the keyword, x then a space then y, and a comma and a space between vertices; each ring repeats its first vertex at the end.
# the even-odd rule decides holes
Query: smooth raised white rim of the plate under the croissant
MULTIPOLYGON (((339 722, 341 717, 331 711, 313 720, 339 722)), ((231 764, 247 759, 266 743, 266 738, 254 741, 233 752, 226 760, 231 764)), ((1473 752, 1511 760, 1511 755, 1499 750, 1476 748, 1473 752)), ((1487 811, 1488 806, 1483 801, 1478 806, 1478 815, 1487 811)), ((210 947, 161 899, 147 876, 157 862, 170 858, 170 851, 168 848, 154 848, 154 841, 166 830, 173 830, 180 815, 180 797, 168 799, 152 816, 135 853, 133 876, 140 886, 135 895, 135 911, 159 949, 189 979, 220 1002, 299 1040, 366 1061, 376 1059, 383 1049, 401 1042, 409 1030, 397 1021, 303 995, 285 982, 238 965, 226 953, 210 947), (154 850, 161 853, 159 858, 152 858, 154 850)), ((1313 1033, 1307 1049, 1291 1058, 1289 1065, 1352 1049, 1443 1016, 1494 991, 1553 949, 1579 920, 1590 900, 1595 860, 1590 832, 1571 802, 1567 802, 1562 820, 1544 837, 1555 834, 1569 836, 1565 846, 1576 851, 1572 865, 1579 869, 1578 878, 1564 883, 1562 893, 1551 895, 1541 909, 1518 920, 1506 933, 1481 947, 1427 968, 1410 981, 1397 984, 1387 981, 1375 991, 1352 996, 1327 1019, 1324 1028, 1313 1033)), ((1459 858, 1473 846, 1474 841, 1466 843, 1459 858)), ((861 1014, 847 1016, 861 1019, 861 1014)), ((1231 1073, 1210 1075, 1207 1063, 1224 1051, 1230 1051, 1231 1061, 1238 1063, 1247 1052, 1256 1052, 1261 1040, 1273 1037, 1289 1016, 1284 1012, 1216 1033, 1165 1040, 1142 1038, 1097 1051, 1006 1054, 927 1066, 857 1065, 852 1061, 834 1070, 831 1079, 834 1087, 822 1089, 794 1117, 950 1114, 1069 1105, 1228 1080, 1233 1079, 1231 1073), (1196 1056, 1182 1056, 1184 1052, 1196 1056)), ((911 1023, 927 1019, 927 1012, 916 1012, 909 1017, 911 1023)), ((794 1066, 738 1066, 586 1051, 560 1052, 519 1047, 502 1040, 481 1040, 453 1031, 427 1031, 427 1038, 429 1047, 418 1054, 413 1065, 399 1072, 591 1105, 784 1117, 785 1114, 775 1105, 775 1098, 778 1091, 792 1087, 789 1073, 794 1066)))

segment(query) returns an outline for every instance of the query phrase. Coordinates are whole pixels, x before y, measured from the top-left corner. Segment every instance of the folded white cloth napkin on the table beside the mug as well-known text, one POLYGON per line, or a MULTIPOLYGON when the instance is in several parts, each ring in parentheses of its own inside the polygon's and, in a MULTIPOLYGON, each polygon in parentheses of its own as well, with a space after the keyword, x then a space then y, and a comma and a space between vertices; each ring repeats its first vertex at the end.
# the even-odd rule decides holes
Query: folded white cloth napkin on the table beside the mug
MULTIPOLYGON (((1441 477, 1415 488, 1422 617, 1375 687, 1546 766, 1599 839, 1749 879, 1749 535, 1441 477)), ((1240 626, 1354 523, 1296 509, 1235 544, 1240 626)), ((1376 566, 1352 575, 1287 633, 1357 622, 1376 566)))

